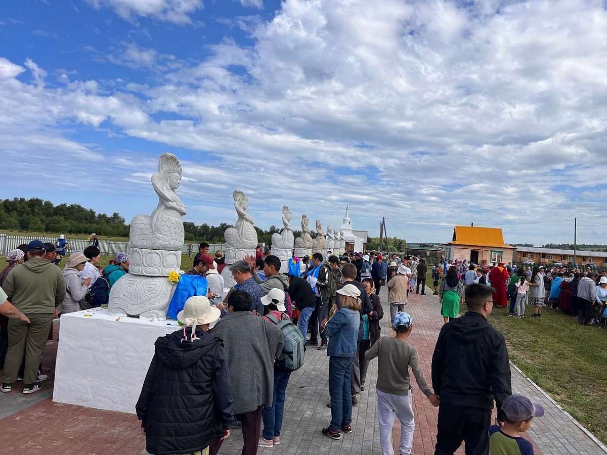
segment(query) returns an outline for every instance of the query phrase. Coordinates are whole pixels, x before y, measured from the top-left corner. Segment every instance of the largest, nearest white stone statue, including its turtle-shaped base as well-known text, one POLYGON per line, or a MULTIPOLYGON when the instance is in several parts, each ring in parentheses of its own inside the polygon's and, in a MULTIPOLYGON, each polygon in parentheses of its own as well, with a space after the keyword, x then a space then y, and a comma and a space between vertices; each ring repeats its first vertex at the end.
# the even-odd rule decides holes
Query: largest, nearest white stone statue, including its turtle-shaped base
POLYGON ((172 153, 163 153, 152 187, 158 206, 151 216, 136 215, 131 221, 129 273, 110 291, 108 308, 116 316, 166 319, 174 286, 168 275, 181 267, 183 221, 186 206, 175 190, 181 183, 181 166, 172 153))

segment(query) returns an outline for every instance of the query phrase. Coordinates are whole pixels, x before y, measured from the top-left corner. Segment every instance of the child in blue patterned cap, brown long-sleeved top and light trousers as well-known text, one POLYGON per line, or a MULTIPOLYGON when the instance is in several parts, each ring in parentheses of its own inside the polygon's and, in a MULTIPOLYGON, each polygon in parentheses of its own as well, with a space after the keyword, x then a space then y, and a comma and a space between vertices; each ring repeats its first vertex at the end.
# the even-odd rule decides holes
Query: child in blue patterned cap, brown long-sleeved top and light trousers
POLYGON ((409 367, 421 391, 433 406, 438 406, 438 396, 428 386, 417 349, 407 343, 413 331, 413 318, 409 313, 399 311, 394 315, 392 326, 396 336, 381 337, 365 352, 365 359, 379 357, 378 382, 375 386, 378 396, 379 440, 382 453, 393 454, 392 427, 396 417, 401 422, 401 443, 399 453, 409 455, 413 446, 413 394, 409 367), (405 368, 404 368, 405 367, 405 368))

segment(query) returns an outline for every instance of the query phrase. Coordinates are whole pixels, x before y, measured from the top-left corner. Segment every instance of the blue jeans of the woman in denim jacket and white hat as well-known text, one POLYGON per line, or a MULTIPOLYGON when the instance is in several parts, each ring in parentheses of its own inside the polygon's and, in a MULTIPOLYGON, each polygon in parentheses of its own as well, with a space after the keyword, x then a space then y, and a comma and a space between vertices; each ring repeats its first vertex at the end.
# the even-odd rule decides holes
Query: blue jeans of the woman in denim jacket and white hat
POLYGON ((354 357, 329 357, 329 394, 331 396, 331 430, 352 422, 350 376, 354 357))

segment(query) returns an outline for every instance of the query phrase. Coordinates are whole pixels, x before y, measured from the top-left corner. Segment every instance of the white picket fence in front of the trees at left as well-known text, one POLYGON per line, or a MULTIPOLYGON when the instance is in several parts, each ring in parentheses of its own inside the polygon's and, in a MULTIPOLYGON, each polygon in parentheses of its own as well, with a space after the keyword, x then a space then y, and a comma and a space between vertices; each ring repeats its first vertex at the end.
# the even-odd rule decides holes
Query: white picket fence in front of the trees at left
MULTIPOLYGON (((69 248, 66 253, 70 254, 75 251, 84 251, 84 249, 90 245, 90 241, 85 238, 72 238, 69 236, 67 238, 67 243, 69 244, 69 248)), ((7 235, 0 232, 0 255, 5 256, 12 249, 17 248, 19 245, 23 243, 30 243, 32 240, 40 240, 43 242, 55 243, 57 241, 56 237, 36 237, 34 235, 7 235)), ((181 247, 181 252, 183 254, 188 254, 188 245, 189 243, 184 243, 181 247)), ((129 243, 127 241, 109 241, 109 240, 99 240, 99 249, 101 251, 101 255, 103 256, 115 256, 117 253, 121 251, 129 251, 129 243)), ((213 254, 215 251, 224 250, 225 244, 223 243, 210 243, 209 244, 209 252, 213 254)), ((192 243, 192 255, 198 252, 198 243, 192 243)))

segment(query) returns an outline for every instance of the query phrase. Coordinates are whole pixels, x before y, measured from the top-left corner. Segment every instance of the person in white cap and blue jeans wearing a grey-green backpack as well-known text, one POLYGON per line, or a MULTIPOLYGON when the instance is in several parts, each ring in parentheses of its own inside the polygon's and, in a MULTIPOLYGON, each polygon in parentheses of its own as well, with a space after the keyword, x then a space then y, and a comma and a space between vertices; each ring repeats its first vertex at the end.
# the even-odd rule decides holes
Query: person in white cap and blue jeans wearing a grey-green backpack
POLYGON ((287 315, 285 308, 285 293, 280 289, 270 289, 262 297, 263 318, 275 325, 285 335, 285 345, 279 359, 274 363, 274 396, 272 406, 263 406, 263 432, 259 438, 260 447, 274 447, 280 444, 283 409, 285 407, 285 391, 291 372, 304 364, 304 337, 287 315))

